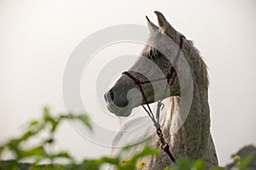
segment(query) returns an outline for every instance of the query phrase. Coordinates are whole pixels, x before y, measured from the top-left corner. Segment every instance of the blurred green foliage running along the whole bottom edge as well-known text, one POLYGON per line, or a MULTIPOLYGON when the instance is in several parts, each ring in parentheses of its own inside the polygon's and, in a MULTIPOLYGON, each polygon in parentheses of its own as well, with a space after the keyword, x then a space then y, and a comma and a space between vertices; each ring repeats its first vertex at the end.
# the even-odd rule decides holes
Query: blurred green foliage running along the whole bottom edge
MULTIPOLYGON (((148 165, 143 158, 145 156, 159 156, 160 151, 157 149, 151 149, 148 143, 145 143, 143 150, 137 153, 137 155, 122 159, 122 155, 128 150, 132 149, 132 146, 124 147, 118 156, 116 157, 102 157, 96 160, 84 159, 82 162, 76 161, 67 151, 60 151, 53 153, 47 150, 47 146, 55 144, 55 132, 61 122, 67 120, 78 120, 84 123, 84 126, 88 127, 92 131, 89 117, 85 114, 75 116, 73 114, 51 116, 49 109, 44 108, 44 114, 41 119, 33 120, 26 126, 26 132, 22 133, 19 138, 10 139, 6 143, 0 145, 0 170, 13 169, 13 170, 44 170, 44 169, 58 169, 58 170, 98 170, 102 165, 112 165, 117 170, 143 170, 148 169, 148 165), (49 136, 41 143, 33 146, 32 148, 23 147, 30 139, 37 137, 39 133, 47 131, 49 136), (9 150, 14 157, 14 160, 1 161, 3 151, 9 150), (55 161, 59 159, 65 159, 67 164, 56 164, 55 161), (32 159, 33 163, 21 163, 27 159, 32 159), (44 162, 48 164, 42 164, 44 162)), ((249 163, 252 161, 252 156, 234 156, 235 169, 236 170, 249 170, 249 163)), ((188 159, 180 158, 177 160, 177 164, 174 167, 166 167, 164 170, 203 170, 207 167, 205 161, 189 161, 188 159)), ((213 170, 226 170, 224 167, 214 167, 213 170)))

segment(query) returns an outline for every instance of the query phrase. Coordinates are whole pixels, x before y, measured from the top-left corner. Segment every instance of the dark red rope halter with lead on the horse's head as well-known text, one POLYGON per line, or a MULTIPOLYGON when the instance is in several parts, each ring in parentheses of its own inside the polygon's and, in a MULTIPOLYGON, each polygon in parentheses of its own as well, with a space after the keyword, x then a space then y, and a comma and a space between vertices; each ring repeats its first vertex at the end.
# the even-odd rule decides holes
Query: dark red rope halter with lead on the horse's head
POLYGON ((161 149, 164 150, 166 152, 166 154, 170 157, 170 159, 172 160, 173 163, 176 163, 176 160, 174 158, 174 156, 172 156, 172 153, 169 149, 169 144, 166 143, 164 137, 163 137, 163 133, 162 133, 162 130, 161 130, 161 127, 160 127, 160 122, 159 122, 159 119, 160 119, 160 110, 163 109, 163 107, 165 106, 162 101, 166 95, 166 91, 167 91, 167 88, 168 88, 168 84, 170 84, 170 86, 172 86, 173 82, 175 81, 176 77, 177 77, 177 72, 175 71, 174 67, 176 66, 177 64, 177 59, 178 59, 178 56, 180 55, 181 53, 181 49, 183 48, 183 38, 185 39, 185 37, 183 35, 181 35, 179 37, 179 48, 177 50, 177 54, 176 54, 176 57, 172 63, 172 67, 171 67, 171 70, 170 72, 166 75, 166 77, 163 77, 163 78, 157 78, 157 79, 154 79, 152 81, 143 81, 141 82, 139 79, 137 79, 136 77, 132 76, 130 72, 128 71, 124 71, 122 74, 126 75, 127 77, 130 77, 131 80, 133 80, 138 88, 140 89, 141 93, 143 94, 143 99, 145 100, 146 102, 146 105, 148 107, 148 109, 143 105, 143 109, 148 113, 148 116, 151 118, 151 120, 154 122, 154 127, 156 128, 156 133, 157 135, 159 136, 160 138, 160 143, 161 143, 161 149), (172 82, 170 83, 172 79, 172 82), (146 98, 146 95, 144 94, 144 91, 143 91, 143 87, 142 87, 142 84, 146 84, 146 83, 150 83, 150 82, 158 82, 158 81, 161 81, 161 80, 167 80, 167 85, 166 85, 166 91, 165 91, 165 94, 163 95, 163 97, 158 100, 158 104, 157 104, 157 110, 156 110, 156 120, 154 118, 154 114, 153 112, 151 111, 150 109, 150 106, 148 104, 148 100, 146 98), (162 107, 162 108, 161 108, 162 107))

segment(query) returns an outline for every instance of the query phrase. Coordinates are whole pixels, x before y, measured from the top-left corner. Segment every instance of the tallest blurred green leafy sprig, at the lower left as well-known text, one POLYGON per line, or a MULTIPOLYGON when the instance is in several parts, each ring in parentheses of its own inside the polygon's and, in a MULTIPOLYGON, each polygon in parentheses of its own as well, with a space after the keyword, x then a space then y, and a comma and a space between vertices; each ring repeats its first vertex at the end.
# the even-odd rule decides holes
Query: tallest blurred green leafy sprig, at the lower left
MULTIPOLYGON (((60 116, 51 116, 48 108, 44 108, 43 118, 38 120, 33 120, 29 122, 26 126, 26 132, 22 133, 20 137, 15 139, 10 139, 5 144, 0 145, 0 160, 2 158, 2 153, 4 150, 9 150, 14 157, 14 160, 9 161, 8 164, 5 164, 4 168, 6 169, 18 169, 18 162, 26 159, 32 159, 31 167, 35 167, 38 163, 42 161, 49 161, 53 164, 56 159, 65 158, 67 161, 73 163, 74 159, 70 156, 67 151, 60 151, 58 153, 49 153, 46 150, 48 145, 54 144, 55 142, 55 132, 56 128, 59 127, 61 122, 66 121, 67 119, 77 119, 84 123, 86 127, 92 130, 88 116, 81 114, 79 116, 74 116, 72 114, 60 115, 60 116), (37 136, 39 133, 47 131, 49 133, 48 138, 44 139, 42 142, 33 146, 29 149, 23 149, 22 147, 29 139, 37 136)), ((0 166, 3 167, 3 162, 0 161, 0 166)))

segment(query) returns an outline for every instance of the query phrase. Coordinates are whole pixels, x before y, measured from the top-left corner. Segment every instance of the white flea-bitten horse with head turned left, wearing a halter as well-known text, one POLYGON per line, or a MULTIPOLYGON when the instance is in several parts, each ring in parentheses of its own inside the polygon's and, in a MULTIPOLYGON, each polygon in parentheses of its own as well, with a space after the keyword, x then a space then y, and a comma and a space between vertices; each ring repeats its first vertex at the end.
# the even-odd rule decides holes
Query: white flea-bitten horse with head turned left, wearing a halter
MULTIPOLYGON (((172 155, 175 158, 204 159, 207 169, 212 169, 218 166, 218 158, 210 132, 207 65, 191 41, 176 31, 163 14, 157 11, 155 14, 159 26, 148 20, 150 36, 142 57, 105 94, 108 110, 116 116, 130 116, 137 106, 169 98, 171 108, 160 113, 160 127, 172 155), (189 84, 189 87, 183 84, 189 84), (190 105, 182 105, 182 100, 189 94, 190 105)), ((160 147, 157 134, 151 139, 153 147, 160 147)), ((172 166, 172 161, 163 151, 160 156, 150 156, 146 161, 148 169, 172 166)))

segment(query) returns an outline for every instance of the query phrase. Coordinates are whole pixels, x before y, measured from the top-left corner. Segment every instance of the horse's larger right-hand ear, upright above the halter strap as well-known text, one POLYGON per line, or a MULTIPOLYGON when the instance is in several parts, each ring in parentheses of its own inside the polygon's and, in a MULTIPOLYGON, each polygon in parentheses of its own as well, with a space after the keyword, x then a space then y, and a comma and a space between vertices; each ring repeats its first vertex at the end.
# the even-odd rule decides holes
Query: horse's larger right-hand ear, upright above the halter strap
POLYGON ((176 35, 176 31, 166 20, 165 16, 161 14, 159 11, 154 11, 154 13, 157 16, 158 24, 160 26, 161 31, 165 32, 167 35, 171 37, 174 37, 176 35))

